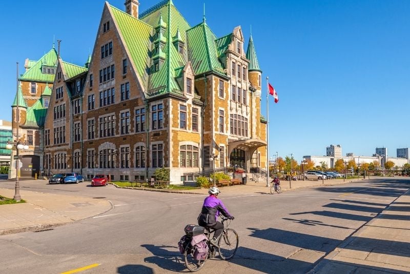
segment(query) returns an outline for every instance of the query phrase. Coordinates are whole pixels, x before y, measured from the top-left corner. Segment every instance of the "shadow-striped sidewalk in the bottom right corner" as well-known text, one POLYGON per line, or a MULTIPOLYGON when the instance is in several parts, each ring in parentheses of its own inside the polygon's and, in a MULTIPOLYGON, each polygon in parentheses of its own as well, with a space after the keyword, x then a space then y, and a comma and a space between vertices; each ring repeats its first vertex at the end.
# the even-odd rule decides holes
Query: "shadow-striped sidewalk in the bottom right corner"
POLYGON ((410 273, 410 190, 309 273, 410 273))

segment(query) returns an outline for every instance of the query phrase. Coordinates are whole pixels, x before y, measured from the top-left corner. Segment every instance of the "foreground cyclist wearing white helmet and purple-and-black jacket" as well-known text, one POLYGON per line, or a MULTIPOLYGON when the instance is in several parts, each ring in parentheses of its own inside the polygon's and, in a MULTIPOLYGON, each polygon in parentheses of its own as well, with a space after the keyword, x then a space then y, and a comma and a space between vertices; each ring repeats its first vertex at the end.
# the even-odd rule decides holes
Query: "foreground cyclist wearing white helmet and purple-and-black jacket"
POLYGON ((222 201, 218 199, 220 191, 217 187, 211 187, 208 190, 208 193, 209 196, 203 201, 202 210, 198 216, 198 224, 200 226, 215 229, 214 237, 210 242, 212 245, 218 246, 216 241, 223 232, 223 224, 217 221, 219 214, 222 213, 223 216, 230 220, 235 218, 229 213, 222 201))

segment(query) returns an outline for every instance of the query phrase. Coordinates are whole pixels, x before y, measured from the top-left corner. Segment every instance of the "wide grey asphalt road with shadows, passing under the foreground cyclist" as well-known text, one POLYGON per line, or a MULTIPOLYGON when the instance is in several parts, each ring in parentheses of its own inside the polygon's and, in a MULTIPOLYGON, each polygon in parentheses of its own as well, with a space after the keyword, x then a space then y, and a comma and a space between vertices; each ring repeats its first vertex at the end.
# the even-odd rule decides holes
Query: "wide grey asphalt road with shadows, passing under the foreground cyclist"
MULTIPOLYGON (((282 194, 220 195, 235 216, 239 248, 230 261, 212 259, 207 273, 305 273, 410 186, 375 179, 282 194)), ((0 187, 14 187, 2 181, 0 187)), ((0 272, 169 273, 187 271, 177 242, 196 223, 204 195, 108 187, 27 184, 25 190, 107 199, 114 209, 42 232, 0 237, 0 272)))

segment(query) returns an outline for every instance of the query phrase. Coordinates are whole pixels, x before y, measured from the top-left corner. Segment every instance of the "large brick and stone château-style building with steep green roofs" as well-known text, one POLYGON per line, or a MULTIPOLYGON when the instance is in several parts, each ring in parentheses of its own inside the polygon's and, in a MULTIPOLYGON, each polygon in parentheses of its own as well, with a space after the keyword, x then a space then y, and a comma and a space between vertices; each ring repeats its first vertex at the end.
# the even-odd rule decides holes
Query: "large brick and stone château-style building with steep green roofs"
MULTIPOLYGON (((147 180, 166 167, 172 182, 213 168, 212 154, 215 168, 265 168, 262 71, 252 37, 244 51, 241 27, 216 37, 205 17, 192 27, 172 1, 142 13, 138 5, 127 0, 124 12, 106 2, 88 72, 54 81, 47 168, 147 180), (79 81, 81 92, 71 93, 67 81, 74 88, 79 81), (63 118, 52 111, 59 105, 66 105, 63 118)), ((64 74, 59 64, 57 75, 64 74)))

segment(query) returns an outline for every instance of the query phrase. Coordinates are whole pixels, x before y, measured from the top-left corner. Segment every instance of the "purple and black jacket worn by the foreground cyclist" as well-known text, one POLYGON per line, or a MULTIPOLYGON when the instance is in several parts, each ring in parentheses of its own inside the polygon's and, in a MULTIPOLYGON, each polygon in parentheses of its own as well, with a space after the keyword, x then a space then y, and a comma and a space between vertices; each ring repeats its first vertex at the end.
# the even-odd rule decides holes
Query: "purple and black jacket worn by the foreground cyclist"
POLYGON ((198 224, 200 226, 213 226, 216 224, 217 217, 220 213, 227 218, 231 217, 231 214, 222 201, 214 195, 209 195, 209 197, 203 201, 202 210, 198 216, 198 224))

